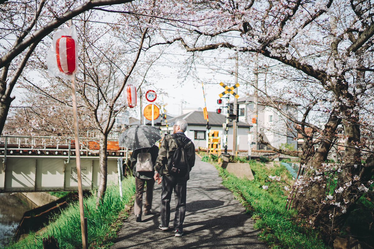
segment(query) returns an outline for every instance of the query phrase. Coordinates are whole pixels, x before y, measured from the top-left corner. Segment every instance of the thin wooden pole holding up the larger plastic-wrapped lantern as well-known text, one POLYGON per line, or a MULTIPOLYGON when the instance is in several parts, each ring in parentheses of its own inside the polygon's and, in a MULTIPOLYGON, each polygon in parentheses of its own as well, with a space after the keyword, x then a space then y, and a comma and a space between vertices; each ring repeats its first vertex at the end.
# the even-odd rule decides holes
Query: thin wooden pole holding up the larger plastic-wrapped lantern
POLYGON ((75 154, 77 163, 78 177, 78 196, 80 211, 80 229, 82 230, 82 248, 88 249, 88 237, 85 225, 85 210, 83 209, 83 191, 82 191, 82 175, 80 172, 80 151, 79 151, 79 130, 78 130, 78 111, 77 111, 77 93, 75 89, 75 76, 71 80, 71 92, 73 96, 73 118, 74 118, 74 134, 75 134, 75 154))

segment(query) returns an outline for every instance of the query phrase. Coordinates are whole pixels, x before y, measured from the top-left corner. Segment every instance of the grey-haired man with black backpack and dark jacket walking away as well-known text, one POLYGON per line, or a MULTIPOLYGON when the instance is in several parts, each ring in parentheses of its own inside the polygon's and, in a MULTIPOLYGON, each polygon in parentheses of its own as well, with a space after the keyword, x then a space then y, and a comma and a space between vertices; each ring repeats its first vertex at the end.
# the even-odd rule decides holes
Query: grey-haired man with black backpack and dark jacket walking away
POLYGON ((175 198, 175 237, 183 236, 183 221, 186 215, 187 181, 191 168, 195 165, 195 146, 186 137, 187 122, 177 119, 173 134, 166 135, 161 143, 159 155, 154 165, 154 179, 162 181, 161 193, 161 230, 169 229, 170 200, 174 190, 175 198), (162 180, 160 178, 162 176, 162 180))

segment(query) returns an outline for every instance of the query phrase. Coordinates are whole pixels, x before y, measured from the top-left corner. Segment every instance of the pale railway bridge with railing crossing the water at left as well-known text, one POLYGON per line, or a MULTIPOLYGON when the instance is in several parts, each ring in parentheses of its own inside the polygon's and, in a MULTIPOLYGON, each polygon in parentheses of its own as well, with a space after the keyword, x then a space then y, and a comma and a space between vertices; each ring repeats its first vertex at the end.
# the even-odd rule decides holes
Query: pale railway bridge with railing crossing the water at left
MULTIPOLYGON (((84 137, 80 141, 82 187, 90 190, 99 184, 98 139, 84 137)), ((127 153, 117 139, 108 139, 108 183, 118 184, 127 153)), ((0 193, 78 189, 74 138, 3 136, 1 159, 0 193)))

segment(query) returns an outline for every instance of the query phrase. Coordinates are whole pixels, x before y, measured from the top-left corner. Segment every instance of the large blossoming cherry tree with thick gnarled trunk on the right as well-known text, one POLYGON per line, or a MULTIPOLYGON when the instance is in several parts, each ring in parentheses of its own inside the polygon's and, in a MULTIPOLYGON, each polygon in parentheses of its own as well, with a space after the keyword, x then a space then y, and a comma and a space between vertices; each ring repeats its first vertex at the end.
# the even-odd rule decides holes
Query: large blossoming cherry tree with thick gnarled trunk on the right
POLYGON ((283 97, 299 102, 301 118, 273 98, 275 89, 257 90, 304 143, 301 151, 271 147, 301 158, 305 173, 295 183, 293 205, 331 238, 359 197, 372 191, 373 7, 370 0, 176 0, 155 13, 162 17, 157 45, 177 42, 191 53, 226 49, 285 65, 279 85, 283 97), (336 146, 341 156, 329 163, 336 146))

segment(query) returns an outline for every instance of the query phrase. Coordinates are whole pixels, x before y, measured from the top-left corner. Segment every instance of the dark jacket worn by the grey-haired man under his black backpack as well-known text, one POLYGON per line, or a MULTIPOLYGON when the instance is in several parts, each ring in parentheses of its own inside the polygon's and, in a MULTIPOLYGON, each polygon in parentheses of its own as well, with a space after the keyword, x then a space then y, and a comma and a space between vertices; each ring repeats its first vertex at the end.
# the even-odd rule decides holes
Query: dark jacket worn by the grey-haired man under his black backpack
MULTIPOLYGON (((168 160, 174 155, 174 150, 177 149, 177 143, 175 142, 175 137, 179 138, 179 141, 184 143, 187 140, 190 140, 184 133, 175 133, 172 135, 165 135, 164 139, 162 140, 159 156, 157 156, 156 164, 154 165, 154 169, 160 173, 160 175, 167 175, 169 176, 168 172, 168 160)), ((189 171, 191 171, 192 167, 195 165, 195 145, 190 140, 189 143, 185 146, 186 156, 189 166, 189 171)), ((190 179, 190 172, 186 174, 186 180, 190 179)))

